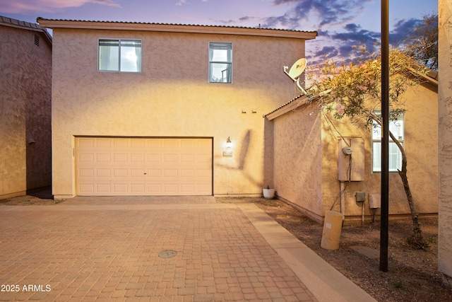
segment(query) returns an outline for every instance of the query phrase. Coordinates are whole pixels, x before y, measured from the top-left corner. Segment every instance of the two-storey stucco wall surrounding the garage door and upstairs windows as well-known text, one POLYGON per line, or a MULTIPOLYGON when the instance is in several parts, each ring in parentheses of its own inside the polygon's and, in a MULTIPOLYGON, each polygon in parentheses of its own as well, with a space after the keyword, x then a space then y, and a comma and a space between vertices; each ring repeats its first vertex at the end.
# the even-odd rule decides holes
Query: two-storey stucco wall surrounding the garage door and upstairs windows
POLYGON ((261 194, 270 175, 262 115, 290 98, 283 66, 304 57, 303 40, 60 28, 53 35, 57 198, 76 192, 74 136, 213 137, 214 194, 261 194), (100 37, 141 39, 141 74, 97 72, 100 37), (234 83, 208 83, 208 42, 233 43, 234 83), (222 156, 227 137, 232 158, 222 156))

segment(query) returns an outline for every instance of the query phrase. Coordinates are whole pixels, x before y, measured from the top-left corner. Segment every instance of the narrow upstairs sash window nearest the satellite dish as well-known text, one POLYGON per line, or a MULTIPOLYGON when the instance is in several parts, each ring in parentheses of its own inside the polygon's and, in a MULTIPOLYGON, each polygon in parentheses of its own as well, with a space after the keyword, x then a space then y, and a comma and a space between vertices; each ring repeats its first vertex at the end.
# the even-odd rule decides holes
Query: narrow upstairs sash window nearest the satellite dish
POLYGON ((209 82, 232 83, 232 43, 209 42, 209 82))

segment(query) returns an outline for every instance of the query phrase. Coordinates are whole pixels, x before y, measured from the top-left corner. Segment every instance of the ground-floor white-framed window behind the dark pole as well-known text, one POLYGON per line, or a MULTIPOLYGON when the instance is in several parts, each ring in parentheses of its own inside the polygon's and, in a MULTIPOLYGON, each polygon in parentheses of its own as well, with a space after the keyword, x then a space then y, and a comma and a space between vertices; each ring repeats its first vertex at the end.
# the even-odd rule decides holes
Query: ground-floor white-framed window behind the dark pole
MULTIPOLYGON (((381 112, 376 112, 381 114, 381 112)), ((389 131, 394 134, 394 137, 402 144, 405 140, 405 129, 403 116, 399 116, 397 120, 389 122, 389 131)), ((381 127, 374 122, 372 126, 372 171, 381 172, 381 127)), ((388 154, 389 172, 397 172, 402 168, 402 153, 398 149, 396 143, 389 137, 389 154, 388 154)))

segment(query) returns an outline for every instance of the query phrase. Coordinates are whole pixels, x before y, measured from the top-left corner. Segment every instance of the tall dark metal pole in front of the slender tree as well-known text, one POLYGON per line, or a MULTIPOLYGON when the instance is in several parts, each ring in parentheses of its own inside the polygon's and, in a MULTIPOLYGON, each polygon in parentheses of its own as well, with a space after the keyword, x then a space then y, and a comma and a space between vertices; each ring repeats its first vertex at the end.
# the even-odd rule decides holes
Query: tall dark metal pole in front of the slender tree
POLYGON ((388 272, 389 216, 389 0, 381 0, 381 226, 380 270, 388 272))

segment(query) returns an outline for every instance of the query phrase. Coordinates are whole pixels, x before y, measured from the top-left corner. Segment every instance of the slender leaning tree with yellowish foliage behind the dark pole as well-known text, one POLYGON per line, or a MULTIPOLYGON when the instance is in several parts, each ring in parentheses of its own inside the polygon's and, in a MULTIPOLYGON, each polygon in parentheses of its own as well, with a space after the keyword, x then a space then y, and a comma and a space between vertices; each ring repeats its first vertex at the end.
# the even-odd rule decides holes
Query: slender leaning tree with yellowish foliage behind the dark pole
MULTIPOLYGON (((327 59, 318 67, 317 72, 310 74, 311 88, 307 90, 307 97, 337 120, 347 117, 359 127, 370 128, 375 123, 381 127, 381 115, 376 113, 376 110, 381 110, 381 54, 368 52, 364 45, 353 49, 356 54, 352 56, 350 63, 336 64, 327 59)), ((390 119, 396 120, 406 110, 403 94, 410 86, 424 81, 420 74, 427 74, 428 69, 417 64, 410 52, 393 48, 389 54, 389 71, 390 119)), ((408 183, 405 150, 391 132, 389 135, 402 154, 402 168, 398 173, 412 215, 413 235, 410 236, 410 244, 424 246, 408 183), (414 241, 416 244, 413 244, 414 241)))

